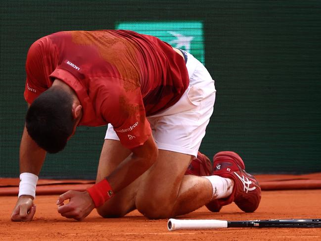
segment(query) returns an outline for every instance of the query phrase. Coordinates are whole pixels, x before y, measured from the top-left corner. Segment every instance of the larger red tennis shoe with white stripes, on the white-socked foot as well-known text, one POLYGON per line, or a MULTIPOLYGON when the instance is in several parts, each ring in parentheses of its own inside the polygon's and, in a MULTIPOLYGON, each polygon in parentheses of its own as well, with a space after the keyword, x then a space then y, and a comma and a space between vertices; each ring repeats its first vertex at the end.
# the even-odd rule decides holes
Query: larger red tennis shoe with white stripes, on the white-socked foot
POLYGON ((233 151, 221 151, 213 157, 212 175, 230 178, 234 181, 231 195, 227 198, 212 200, 206 207, 212 212, 219 212, 222 206, 232 201, 244 212, 254 212, 261 200, 261 188, 258 181, 245 172, 242 158, 233 151))

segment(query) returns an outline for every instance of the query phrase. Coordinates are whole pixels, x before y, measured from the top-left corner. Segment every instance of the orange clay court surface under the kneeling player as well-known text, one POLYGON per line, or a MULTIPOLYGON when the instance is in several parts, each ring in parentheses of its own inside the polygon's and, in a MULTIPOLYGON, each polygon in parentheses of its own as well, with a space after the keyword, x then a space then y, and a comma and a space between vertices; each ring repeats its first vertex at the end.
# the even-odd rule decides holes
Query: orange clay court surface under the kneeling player
MULTIPOLYGON (((169 232, 167 220, 148 220, 138 211, 124 218, 103 219, 94 210, 84 221, 61 217, 55 202, 58 195, 38 195, 37 212, 32 222, 11 222, 16 196, 0 196, 0 240, 10 241, 91 241, 91 240, 225 240, 225 241, 320 241, 321 228, 229 228, 169 232)), ((264 191, 258 210, 243 213, 236 205, 211 213, 202 207, 180 216, 184 219, 284 219, 321 218, 321 190, 264 191)))

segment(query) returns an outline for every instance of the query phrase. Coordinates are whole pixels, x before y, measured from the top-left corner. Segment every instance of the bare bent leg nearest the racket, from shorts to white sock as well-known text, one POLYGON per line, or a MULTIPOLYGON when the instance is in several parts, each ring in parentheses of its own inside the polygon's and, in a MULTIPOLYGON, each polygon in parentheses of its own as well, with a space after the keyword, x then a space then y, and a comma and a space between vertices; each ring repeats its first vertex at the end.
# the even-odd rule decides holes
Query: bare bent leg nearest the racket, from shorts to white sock
POLYGON ((208 203, 213 194, 202 177, 184 176, 191 156, 159 150, 156 163, 140 183, 136 206, 149 218, 169 218, 189 213, 208 203))

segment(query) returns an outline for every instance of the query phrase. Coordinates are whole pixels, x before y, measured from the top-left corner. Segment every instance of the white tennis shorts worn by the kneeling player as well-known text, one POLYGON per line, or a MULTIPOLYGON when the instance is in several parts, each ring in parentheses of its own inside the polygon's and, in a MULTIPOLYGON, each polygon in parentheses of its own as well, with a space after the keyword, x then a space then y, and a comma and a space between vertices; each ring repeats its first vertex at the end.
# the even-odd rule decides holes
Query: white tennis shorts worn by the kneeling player
MULTIPOLYGON (((156 115, 148 116, 159 149, 197 156, 205 129, 213 113, 214 80, 193 55, 187 53, 189 86, 180 100, 156 115)), ((119 140, 111 124, 105 139, 119 140)))

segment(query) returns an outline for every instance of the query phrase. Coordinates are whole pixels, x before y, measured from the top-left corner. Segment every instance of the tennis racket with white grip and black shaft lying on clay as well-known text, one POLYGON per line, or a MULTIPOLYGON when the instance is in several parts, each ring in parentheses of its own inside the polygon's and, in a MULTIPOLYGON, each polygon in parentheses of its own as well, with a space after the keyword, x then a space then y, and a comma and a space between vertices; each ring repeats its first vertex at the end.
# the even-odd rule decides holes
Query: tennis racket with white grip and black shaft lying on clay
POLYGON ((226 221, 215 219, 183 220, 169 219, 169 231, 182 229, 222 229, 222 228, 321 228, 321 219, 269 219, 249 221, 226 221))

